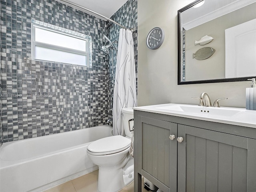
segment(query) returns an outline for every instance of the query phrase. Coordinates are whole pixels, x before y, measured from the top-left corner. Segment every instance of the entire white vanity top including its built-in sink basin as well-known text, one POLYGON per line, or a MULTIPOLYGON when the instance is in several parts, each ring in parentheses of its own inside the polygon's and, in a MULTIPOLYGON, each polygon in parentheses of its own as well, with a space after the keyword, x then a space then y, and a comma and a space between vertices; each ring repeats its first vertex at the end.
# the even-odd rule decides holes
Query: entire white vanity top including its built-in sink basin
MULTIPOLYGON (((256 111, 235 107, 205 107, 190 104, 166 103, 134 107, 135 111, 152 112, 197 120, 256 128, 256 111)), ((175 118, 174 118, 175 119, 175 118)))

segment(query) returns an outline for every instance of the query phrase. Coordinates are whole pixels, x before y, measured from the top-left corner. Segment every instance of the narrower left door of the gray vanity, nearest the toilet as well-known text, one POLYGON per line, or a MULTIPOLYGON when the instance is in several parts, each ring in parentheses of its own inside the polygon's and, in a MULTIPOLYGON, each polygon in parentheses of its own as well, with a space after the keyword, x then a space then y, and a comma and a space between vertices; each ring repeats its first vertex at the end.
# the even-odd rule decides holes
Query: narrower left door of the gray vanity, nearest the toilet
POLYGON ((164 192, 177 191, 177 141, 170 134, 177 136, 177 124, 138 117, 138 170, 164 192))

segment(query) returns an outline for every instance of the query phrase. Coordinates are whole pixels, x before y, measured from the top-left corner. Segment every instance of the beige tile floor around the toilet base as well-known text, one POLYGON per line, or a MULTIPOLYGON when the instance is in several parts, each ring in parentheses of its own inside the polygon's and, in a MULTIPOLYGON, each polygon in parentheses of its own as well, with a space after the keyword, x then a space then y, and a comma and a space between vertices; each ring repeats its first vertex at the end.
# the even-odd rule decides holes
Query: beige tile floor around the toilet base
MULTIPOLYGON (((50 188, 44 192, 97 192, 98 170, 50 188)), ((134 192, 133 182, 120 192, 134 192)), ((142 192, 148 192, 143 188, 142 192)))

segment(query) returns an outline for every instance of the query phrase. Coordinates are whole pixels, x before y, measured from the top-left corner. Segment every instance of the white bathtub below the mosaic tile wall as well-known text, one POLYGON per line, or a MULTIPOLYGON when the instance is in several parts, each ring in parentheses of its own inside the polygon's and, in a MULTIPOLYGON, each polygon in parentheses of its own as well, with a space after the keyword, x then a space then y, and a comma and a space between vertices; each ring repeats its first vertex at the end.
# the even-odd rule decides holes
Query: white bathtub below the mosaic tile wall
POLYGON ((98 169, 87 146, 111 132, 103 125, 2 144, 0 192, 41 192, 98 169))

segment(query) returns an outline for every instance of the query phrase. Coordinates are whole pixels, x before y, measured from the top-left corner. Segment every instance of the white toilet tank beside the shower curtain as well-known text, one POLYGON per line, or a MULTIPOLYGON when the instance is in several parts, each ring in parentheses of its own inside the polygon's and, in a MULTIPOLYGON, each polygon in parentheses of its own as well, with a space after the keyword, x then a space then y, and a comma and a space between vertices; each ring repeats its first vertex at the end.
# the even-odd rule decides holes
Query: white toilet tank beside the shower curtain
MULTIPOLYGON (((132 132, 129 131, 129 120, 133 119, 132 107, 122 108, 122 124, 124 126, 124 132, 129 138, 132 137, 132 132)), ((134 121, 130 121, 130 128, 133 129, 134 121)))

